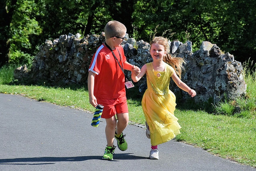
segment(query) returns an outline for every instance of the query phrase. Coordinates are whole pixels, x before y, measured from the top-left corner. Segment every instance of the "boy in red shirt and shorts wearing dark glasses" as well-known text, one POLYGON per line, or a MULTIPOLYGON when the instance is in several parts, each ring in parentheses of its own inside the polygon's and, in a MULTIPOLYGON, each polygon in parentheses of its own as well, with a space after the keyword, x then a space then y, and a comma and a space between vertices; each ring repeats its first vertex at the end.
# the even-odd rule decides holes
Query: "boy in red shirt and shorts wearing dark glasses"
POLYGON ((105 43, 93 55, 89 68, 88 91, 91 105, 104 106, 101 117, 105 118, 107 123, 107 147, 102 159, 112 160, 115 150, 114 139, 117 139, 117 147, 121 151, 127 149, 123 135, 129 121, 124 70, 133 70, 139 74, 140 69, 126 61, 123 48, 120 46, 126 34, 126 27, 113 20, 106 24, 104 31, 105 43))

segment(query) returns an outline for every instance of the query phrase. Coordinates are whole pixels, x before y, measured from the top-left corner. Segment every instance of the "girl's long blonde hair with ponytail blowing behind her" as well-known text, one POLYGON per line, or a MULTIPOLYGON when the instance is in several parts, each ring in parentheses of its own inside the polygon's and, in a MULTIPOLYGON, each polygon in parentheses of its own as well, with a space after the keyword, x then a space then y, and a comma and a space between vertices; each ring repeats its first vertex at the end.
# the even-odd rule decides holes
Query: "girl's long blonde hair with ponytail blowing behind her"
POLYGON ((163 57, 163 62, 169 64, 175 70, 175 73, 179 76, 179 78, 181 78, 181 72, 182 70, 184 70, 182 64, 186 64, 185 60, 183 60, 183 58, 175 57, 170 54, 170 46, 168 44, 167 38, 155 37, 150 42, 150 45, 153 43, 161 44, 164 46, 167 54, 163 57))

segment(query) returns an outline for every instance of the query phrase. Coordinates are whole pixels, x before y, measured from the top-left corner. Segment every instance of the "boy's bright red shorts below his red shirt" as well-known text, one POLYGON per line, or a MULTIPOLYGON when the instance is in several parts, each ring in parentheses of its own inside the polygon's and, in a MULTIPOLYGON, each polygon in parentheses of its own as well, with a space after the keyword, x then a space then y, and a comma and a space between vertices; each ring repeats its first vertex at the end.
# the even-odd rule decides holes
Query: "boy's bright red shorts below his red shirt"
POLYGON ((126 96, 117 99, 97 98, 97 103, 104 106, 102 118, 111 118, 117 113, 128 113, 126 96))

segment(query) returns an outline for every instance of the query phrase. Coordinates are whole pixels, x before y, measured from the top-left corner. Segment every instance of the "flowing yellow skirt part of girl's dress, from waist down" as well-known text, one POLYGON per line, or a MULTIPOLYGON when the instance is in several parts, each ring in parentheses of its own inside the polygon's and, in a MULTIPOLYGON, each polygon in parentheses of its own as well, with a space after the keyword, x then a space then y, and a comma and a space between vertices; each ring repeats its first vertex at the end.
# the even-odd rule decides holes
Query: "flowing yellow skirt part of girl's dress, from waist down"
POLYGON ((145 91, 141 104, 149 125, 151 145, 165 143, 180 133, 178 118, 174 116, 176 97, 169 90, 165 95, 145 91))

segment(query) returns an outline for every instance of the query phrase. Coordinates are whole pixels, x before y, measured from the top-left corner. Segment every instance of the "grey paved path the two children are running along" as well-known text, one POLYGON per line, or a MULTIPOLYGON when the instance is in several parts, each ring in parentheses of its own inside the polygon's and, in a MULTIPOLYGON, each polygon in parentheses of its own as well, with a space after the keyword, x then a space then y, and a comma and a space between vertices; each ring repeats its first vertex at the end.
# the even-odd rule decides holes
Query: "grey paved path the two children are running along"
MULTIPOLYGON (((128 149, 114 160, 101 160, 105 119, 91 126, 93 114, 0 94, 0 171, 256 171, 191 145, 159 145, 159 160, 150 160, 145 129, 128 125, 128 149)), ((116 141, 115 141, 116 145, 116 141)))

